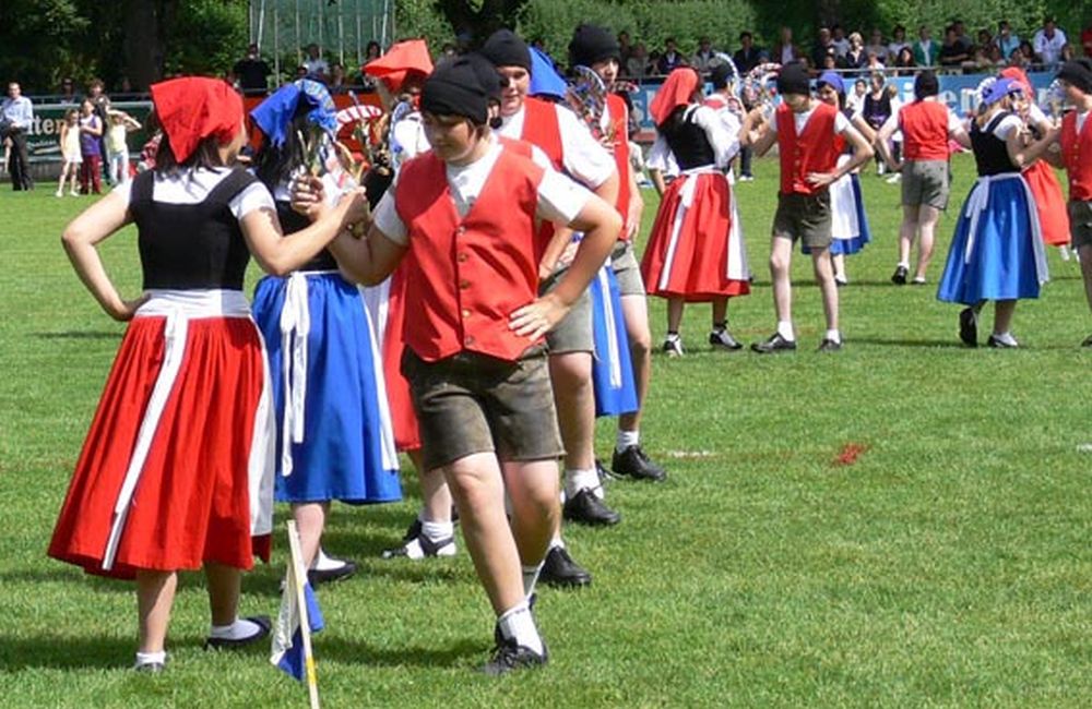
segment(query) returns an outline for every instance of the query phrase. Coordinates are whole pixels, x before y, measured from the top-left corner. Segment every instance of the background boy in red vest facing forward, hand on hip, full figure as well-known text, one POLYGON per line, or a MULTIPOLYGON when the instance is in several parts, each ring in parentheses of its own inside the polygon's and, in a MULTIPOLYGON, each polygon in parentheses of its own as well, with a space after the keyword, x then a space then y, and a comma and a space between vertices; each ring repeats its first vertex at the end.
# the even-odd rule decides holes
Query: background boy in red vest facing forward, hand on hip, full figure
POLYGON ((833 352, 842 349, 842 334, 838 328, 838 286, 830 260, 831 215, 827 185, 868 161, 873 148, 838 109, 811 97, 808 70, 804 64, 790 62, 781 69, 778 93, 783 103, 773 120, 756 134, 753 128, 763 111, 758 107, 747 115, 740 135, 740 143, 751 145, 756 155, 764 155, 774 142, 781 153, 781 189, 770 245, 778 331, 767 340, 752 344, 751 349, 763 354, 796 349, 788 271, 793 242, 803 239, 811 249, 811 263, 827 315, 827 332, 819 351, 833 352), (853 145, 853 159, 836 167, 846 141, 853 145))

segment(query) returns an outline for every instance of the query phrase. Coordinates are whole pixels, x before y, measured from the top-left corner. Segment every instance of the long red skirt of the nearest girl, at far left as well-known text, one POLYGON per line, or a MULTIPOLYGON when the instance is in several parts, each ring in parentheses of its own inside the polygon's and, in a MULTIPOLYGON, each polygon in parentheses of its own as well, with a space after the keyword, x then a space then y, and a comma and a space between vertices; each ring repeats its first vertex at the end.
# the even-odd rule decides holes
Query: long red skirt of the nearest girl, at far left
POLYGON ((251 460, 252 446, 261 453, 256 417, 265 385, 258 328, 248 317, 188 321, 177 376, 161 388, 167 394, 158 422, 144 423, 156 408, 165 324, 139 316, 126 331, 49 544, 50 556, 93 574, 132 578, 138 569, 198 569, 205 562, 247 569, 256 554, 269 561, 268 530, 251 536, 251 495, 266 492, 253 482, 252 470, 264 471, 251 460), (151 436, 146 457, 118 514, 142 424, 151 436))

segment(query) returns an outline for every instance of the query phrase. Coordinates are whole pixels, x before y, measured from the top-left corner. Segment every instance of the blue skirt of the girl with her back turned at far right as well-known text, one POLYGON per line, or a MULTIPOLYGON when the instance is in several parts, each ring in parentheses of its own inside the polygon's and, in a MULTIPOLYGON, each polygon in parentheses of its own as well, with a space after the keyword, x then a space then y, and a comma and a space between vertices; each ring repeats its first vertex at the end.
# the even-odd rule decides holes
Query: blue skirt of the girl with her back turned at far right
POLYGON ((1019 175, 978 178, 956 224, 938 300, 1038 298, 1048 275, 1032 200, 1019 175))

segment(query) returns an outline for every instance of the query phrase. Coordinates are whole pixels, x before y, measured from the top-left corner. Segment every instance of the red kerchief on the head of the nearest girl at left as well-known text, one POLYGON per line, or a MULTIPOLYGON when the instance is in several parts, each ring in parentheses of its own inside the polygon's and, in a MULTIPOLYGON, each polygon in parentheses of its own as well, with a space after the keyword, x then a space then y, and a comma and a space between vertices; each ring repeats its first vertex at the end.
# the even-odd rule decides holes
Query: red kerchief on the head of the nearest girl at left
POLYGON ((242 127, 242 98, 219 79, 183 76, 153 84, 152 103, 178 163, 204 139, 229 143, 242 127))

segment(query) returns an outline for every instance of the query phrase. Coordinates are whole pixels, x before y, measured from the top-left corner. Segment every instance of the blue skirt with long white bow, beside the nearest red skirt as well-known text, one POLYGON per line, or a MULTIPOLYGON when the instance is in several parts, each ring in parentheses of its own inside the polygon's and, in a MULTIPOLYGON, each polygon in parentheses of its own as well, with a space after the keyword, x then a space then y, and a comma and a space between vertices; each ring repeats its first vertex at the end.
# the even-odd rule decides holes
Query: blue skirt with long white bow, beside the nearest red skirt
POLYGON ((276 407, 277 502, 401 500, 382 362, 360 290, 335 272, 265 277, 253 312, 276 407))

